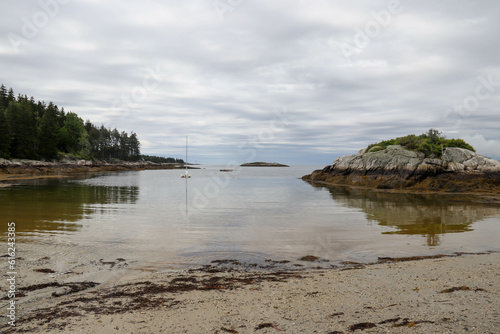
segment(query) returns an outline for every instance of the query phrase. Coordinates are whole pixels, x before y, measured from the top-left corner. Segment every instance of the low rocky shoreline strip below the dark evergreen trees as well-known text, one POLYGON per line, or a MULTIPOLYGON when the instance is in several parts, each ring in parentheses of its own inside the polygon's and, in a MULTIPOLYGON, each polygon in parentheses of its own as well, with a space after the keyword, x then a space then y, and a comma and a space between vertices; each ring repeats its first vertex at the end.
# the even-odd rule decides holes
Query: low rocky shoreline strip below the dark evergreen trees
MULTIPOLYGON (((64 176, 75 173, 132 171, 145 169, 183 169, 183 164, 149 161, 119 161, 109 163, 93 160, 63 160, 60 162, 0 159, 0 181, 16 178, 64 176)), ((188 167, 192 168, 192 167, 188 167)))

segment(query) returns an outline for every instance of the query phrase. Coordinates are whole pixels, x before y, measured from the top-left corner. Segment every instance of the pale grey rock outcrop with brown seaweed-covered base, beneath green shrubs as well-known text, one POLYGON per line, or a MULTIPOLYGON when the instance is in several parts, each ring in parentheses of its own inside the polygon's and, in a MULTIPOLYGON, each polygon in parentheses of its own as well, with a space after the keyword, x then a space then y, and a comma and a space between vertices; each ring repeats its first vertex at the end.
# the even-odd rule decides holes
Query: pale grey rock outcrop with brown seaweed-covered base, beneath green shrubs
POLYGON ((303 179, 380 189, 500 192, 500 161, 463 148, 447 148, 440 158, 400 145, 337 158, 303 179))

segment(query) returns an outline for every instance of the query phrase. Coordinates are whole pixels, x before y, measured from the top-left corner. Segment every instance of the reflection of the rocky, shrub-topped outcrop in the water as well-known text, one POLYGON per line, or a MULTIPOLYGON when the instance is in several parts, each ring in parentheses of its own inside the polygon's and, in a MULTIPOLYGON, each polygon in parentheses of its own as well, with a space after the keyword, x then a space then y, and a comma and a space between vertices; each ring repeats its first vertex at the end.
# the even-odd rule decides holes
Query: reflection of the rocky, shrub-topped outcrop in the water
POLYGON ((367 219, 394 227, 383 234, 422 235, 428 246, 446 233, 472 231, 472 224, 500 216, 500 207, 471 202, 464 195, 407 194, 348 187, 328 187, 335 202, 360 208, 367 219))

